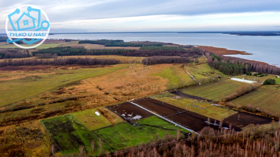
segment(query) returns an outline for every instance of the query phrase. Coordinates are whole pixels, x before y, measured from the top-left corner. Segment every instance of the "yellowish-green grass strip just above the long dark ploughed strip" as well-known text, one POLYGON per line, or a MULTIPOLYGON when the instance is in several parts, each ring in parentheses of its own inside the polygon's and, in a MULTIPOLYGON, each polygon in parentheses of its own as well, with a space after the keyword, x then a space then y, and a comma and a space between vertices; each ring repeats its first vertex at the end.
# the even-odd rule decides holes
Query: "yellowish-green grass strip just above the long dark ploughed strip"
POLYGON ((152 98, 217 120, 222 120, 237 113, 237 111, 228 108, 213 106, 206 102, 196 101, 184 97, 178 97, 171 93, 154 95, 152 98))

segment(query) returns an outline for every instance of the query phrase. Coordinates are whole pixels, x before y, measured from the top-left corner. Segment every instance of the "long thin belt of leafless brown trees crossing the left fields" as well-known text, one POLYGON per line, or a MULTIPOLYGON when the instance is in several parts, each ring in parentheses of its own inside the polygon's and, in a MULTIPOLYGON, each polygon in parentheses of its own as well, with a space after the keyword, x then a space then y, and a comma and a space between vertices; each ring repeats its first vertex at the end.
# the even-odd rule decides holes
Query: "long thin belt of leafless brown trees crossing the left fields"
POLYGON ((0 62, 0 67, 6 66, 31 66, 31 65, 115 65, 120 64, 116 59, 99 59, 99 58, 55 58, 53 60, 22 59, 12 60, 5 59, 0 62))

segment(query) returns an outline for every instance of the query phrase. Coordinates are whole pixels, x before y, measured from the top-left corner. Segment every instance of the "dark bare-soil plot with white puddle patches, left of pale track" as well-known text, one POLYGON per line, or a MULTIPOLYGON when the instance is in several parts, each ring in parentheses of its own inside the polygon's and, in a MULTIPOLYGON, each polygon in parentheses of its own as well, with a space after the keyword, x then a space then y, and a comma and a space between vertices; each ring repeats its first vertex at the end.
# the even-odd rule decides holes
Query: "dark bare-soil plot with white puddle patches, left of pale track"
POLYGON ((122 116, 128 121, 135 121, 153 115, 152 113, 143 110, 142 108, 139 108, 136 105, 133 105, 129 102, 113 106, 107 106, 106 108, 112 110, 113 112, 117 113, 118 115, 122 116))

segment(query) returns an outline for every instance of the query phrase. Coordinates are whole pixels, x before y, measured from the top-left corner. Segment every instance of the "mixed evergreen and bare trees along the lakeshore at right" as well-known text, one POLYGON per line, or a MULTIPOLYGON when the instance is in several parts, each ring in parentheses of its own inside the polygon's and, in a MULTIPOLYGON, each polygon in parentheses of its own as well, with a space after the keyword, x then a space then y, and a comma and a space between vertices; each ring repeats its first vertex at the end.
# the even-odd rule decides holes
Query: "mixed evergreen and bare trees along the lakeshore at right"
POLYGON ((206 52, 205 55, 207 56, 207 62, 211 67, 214 67, 227 75, 247 74, 248 72, 280 75, 280 68, 274 65, 237 57, 218 55, 210 52, 206 52))

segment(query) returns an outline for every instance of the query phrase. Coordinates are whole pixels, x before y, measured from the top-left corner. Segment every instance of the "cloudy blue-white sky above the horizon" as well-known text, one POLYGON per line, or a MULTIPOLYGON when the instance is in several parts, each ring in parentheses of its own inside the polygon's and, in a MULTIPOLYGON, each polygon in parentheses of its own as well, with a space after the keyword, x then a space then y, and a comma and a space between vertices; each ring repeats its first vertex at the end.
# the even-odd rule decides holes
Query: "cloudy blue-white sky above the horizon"
POLYGON ((23 4, 43 9, 50 33, 280 31, 279 0, 0 0, 0 33, 23 4))

